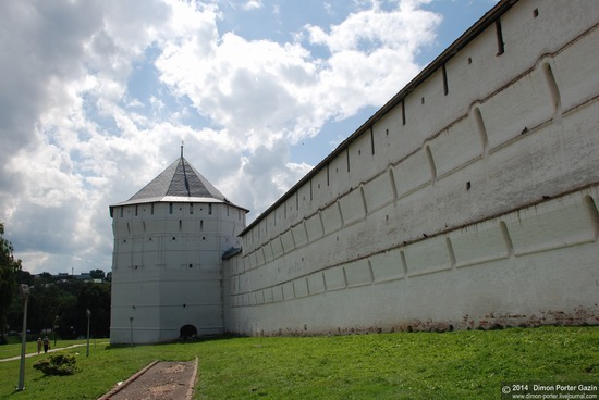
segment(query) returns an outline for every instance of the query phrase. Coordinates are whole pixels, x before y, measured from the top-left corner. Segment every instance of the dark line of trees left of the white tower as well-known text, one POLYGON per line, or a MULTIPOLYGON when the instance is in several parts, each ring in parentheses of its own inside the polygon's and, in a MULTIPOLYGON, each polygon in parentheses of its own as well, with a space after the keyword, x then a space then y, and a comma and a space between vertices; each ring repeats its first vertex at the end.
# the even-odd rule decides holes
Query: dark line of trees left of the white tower
MULTIPOLYGON (((90 311, 89 330, 93 337, 110 336, 110 282, 103 271, 90 271, 91 278, 102 283, 83 282, 73 276, 34 276, 23 271, 21 260, 13 255, 13 247, 4 238, 0 223, 0 343, 5 336, 22 332, 23 299, 19 286, 29 286, 27 332, 37 339, 53 334, 74 339, 87 334, 87 310, 90 311)), ((110 277, 110 273, 108 278, 110 277)))

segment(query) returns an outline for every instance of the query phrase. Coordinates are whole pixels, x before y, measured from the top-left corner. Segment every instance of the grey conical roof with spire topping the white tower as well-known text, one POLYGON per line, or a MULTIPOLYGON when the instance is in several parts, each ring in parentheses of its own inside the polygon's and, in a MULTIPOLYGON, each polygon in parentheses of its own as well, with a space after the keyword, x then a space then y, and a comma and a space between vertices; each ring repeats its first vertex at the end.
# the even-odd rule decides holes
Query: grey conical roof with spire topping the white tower
MULTIPOLYGON (((127 201, 113 204, 110 209, 112 212, 112 208, 118 205, 159 201, 223 202, 234 205, 187 160, 181 157, 127 201)), ((235 207, 243 209, 239 205, 235 207)))

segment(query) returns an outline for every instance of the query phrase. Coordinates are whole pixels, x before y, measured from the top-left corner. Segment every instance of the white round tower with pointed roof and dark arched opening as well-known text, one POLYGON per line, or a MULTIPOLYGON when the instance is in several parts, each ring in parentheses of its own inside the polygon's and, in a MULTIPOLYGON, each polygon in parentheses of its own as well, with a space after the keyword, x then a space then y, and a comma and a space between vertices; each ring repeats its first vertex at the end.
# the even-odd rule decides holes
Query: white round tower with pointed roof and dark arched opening
POLYGON ((110 205, 111 343, 223 332, 221 258, 240 248, 247 210, 181 158, 127 201, 110 205))

